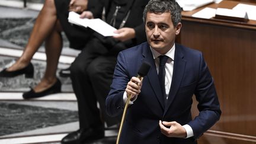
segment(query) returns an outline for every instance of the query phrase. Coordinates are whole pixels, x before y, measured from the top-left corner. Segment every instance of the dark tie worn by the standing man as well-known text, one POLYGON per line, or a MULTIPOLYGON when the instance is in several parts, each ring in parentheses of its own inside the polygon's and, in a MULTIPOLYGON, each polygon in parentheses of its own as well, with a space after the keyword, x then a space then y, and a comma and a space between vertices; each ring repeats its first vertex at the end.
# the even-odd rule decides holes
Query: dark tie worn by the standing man
POLYGON ((168 60, 168 56, 162 55, 159 56, 160 62, 159 62, 159 71, 158 71, 158 78, 161 86, 162 95, 164 97, 164 101, 167 100, 167 95, 165 92, 165 63, 168 60))

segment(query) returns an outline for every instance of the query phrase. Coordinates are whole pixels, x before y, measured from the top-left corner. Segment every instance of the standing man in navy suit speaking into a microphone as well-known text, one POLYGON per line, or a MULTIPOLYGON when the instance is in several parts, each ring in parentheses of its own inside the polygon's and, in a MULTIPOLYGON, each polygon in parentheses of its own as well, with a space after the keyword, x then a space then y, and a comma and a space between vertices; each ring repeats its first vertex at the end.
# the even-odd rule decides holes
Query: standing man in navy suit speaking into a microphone
POLYGON ((117 116, 132 95, 120 143, 197 143, 221 114, 212 75, 201 52, 175 43, 181 30, 177 2, 149 1, 143 20, 148 43, 119 53, 105 102, 107 113, 117 116), (167 57, 164 70, 160 57, 167 57), (142 85, 135 76, 145 61, 151 68, 142 85), (163 71, 164 80, 159 76, 163 71), (200 113, 192 120, 193 95, 200 113))

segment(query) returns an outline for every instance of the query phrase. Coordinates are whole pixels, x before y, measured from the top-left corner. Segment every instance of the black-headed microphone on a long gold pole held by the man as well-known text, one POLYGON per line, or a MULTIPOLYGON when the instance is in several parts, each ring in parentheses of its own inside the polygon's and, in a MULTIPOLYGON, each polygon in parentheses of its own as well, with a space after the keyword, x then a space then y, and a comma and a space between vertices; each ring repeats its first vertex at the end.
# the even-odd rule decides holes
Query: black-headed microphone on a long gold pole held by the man
MULTIPOLYGON (((142 65, 139 68, 139 71, 137 72, 137 78, 140 79, 140 83, 143 81, 143 77, 146 76, 148 74, 149 69, 151 68, 151 64, 148 62, 143 62, 142 65)), ((137 85, 139 85, 140 83, 138 83, 137 85)), ((126 117, 126 111, 127 111, 127 107, 129 105, 129 101, 130 98, 132 97, 132 94, 128 95, 127 101, 126 101, 126 105, 124 107, 124 111, 123 111, 123 116, 121 119, 121 123, 120 123, 120 127, 119 127, 119 133, 117 135, 117 141, 116 144, 119 144, 119 140, 120 140, 120 135, 121 135, 121 131, 123 129, 123 123, 124 123, 124 119, 126 117)))

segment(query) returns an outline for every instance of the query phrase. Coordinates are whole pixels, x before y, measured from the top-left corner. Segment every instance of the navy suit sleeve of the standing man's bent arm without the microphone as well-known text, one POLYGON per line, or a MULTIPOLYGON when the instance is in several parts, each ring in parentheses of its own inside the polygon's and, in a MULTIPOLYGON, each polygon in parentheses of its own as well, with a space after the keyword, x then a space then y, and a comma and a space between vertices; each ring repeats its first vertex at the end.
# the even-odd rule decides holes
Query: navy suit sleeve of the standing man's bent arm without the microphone
POLYGON ((196 99, 199 101, 197 108, 200 113, 199 116, 188 123, 193 129, 195 139, 210 129, 219 120, 221 114, 213 78, 202 54, 200 55, 200 59, 199 82, 195 91, 196 99))

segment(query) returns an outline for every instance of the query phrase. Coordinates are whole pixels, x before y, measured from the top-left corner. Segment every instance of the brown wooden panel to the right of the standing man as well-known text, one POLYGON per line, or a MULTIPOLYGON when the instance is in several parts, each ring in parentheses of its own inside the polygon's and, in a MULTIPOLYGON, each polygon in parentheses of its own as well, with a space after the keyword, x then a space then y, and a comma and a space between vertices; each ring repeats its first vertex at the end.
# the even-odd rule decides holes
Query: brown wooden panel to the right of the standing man
POLYGON ((203 52, 215 79, 223 113, 212 130, 256 136, 256 31, 183 20, 178 41, 203 52))

